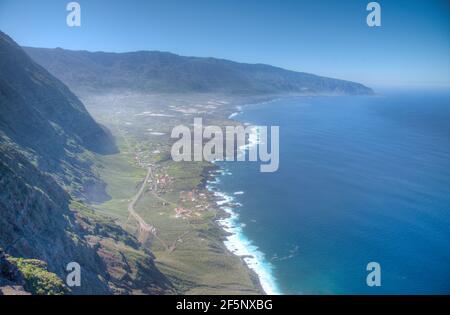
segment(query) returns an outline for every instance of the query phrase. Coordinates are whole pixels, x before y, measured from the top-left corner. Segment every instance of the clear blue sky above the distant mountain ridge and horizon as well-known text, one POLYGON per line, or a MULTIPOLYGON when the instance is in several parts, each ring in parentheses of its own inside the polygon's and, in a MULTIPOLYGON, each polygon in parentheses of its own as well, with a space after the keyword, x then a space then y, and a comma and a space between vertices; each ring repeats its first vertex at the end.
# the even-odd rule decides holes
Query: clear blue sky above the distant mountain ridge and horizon
POLYGON ((267 63, 369 85, 450 86, 450 2, 385 0, 0 0, 0 30, 19 44, 90 51, 162 50, 267 63))

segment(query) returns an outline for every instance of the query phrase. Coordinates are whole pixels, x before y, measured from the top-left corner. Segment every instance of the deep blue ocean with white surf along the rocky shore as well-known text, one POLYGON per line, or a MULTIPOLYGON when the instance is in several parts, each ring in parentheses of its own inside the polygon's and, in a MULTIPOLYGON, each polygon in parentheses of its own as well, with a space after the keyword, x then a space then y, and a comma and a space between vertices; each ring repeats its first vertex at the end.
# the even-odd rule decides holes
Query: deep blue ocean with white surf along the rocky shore
POLYGON ((254 256, 267 291, 450 293, 449 92, 283 99, 234 119, 280 126, 277 172, 218 162, 210 182, 238 203, 228 246, 254 256))

